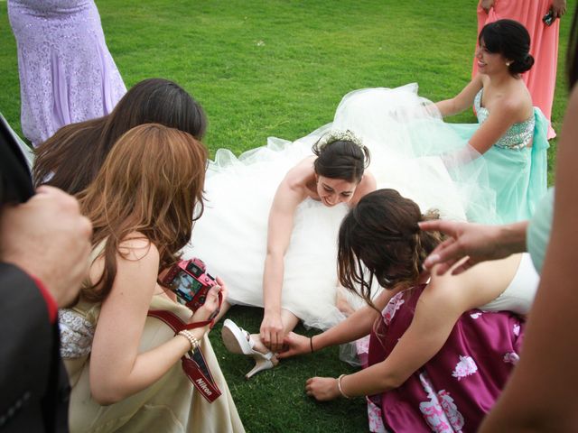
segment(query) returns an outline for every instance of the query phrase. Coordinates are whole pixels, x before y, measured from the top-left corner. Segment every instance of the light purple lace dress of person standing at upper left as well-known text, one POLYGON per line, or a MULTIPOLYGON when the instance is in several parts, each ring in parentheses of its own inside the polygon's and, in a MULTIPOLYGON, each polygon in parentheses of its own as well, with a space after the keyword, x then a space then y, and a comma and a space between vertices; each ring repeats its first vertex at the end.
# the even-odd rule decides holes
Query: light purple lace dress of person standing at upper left
POLYGON ((18 46, 22 130, 34 146, 107 115, 126 93, 94 1, 8 0, 18 46))

